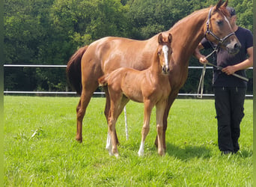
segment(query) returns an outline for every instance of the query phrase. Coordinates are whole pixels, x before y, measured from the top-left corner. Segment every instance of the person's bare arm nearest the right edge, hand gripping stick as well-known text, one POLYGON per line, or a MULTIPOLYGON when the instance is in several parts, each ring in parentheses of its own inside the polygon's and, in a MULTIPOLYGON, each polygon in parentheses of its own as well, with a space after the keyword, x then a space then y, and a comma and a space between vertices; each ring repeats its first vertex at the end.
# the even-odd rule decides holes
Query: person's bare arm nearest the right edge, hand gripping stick
POLYGON ((253 47, 249 47, 247 49, 247 54, 249 55, 249 58, 247 58, 245 61, 240 62, 240 64, 235 64, 233 66, 225 67, 222 69, 222 72, 227 73, 228 75, 231 75, 238 70, 245 70, 249 67, 252 67, 253 66, 253 47))

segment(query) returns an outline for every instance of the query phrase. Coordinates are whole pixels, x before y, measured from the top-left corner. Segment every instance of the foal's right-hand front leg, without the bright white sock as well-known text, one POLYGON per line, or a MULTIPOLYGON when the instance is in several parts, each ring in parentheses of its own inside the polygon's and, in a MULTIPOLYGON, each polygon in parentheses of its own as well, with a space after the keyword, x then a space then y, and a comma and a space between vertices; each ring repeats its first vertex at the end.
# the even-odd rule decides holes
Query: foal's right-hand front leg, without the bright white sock
POLYGON ((163 124, 162 118, 165 113, 166 100, 160 100, 156 103, 156 132, 158 141, 158 153, 160 156, 165 155, 165 149, 163 146, 163 124))

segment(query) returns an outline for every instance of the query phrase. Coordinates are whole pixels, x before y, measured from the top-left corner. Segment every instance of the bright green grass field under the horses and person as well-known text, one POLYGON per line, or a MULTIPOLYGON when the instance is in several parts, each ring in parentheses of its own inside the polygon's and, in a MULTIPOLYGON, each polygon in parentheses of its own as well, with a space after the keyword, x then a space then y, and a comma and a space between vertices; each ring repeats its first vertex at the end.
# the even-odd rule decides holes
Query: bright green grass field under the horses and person
POLYGON ((4 186, 252 186, 252 100, 246 100, 240 152, 222 156, 213 99, 177 99, 168 117, 167 153, 157 155, 155 114, 144 157, 143 105, 118 119, 120 158, 105 150, 105 99, 92 98, 83 143, 75 140, 77 97, 4 96, 4 186))

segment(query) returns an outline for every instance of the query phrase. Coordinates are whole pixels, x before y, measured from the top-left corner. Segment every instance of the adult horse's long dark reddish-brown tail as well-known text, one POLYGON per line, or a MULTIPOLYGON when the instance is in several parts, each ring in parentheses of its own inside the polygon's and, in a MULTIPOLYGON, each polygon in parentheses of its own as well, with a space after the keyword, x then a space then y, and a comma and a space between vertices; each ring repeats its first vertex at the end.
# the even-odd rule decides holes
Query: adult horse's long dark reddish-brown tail
POLYGON ((76 93, 81 95, 82 93, 82 72, 81 72, 81 60, 88 46, 83 46, 76 51, 76 53, 67 62, 67 79, 70 82, 71 87, 76 90, 76 93))

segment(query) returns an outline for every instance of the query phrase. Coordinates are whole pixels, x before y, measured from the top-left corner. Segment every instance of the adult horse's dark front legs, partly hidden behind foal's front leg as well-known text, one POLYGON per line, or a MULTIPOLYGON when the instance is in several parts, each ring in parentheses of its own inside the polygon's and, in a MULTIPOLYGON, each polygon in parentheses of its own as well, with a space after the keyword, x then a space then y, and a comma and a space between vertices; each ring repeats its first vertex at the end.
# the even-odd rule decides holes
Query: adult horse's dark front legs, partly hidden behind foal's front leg
MULTIPOLYGON (((164 149, 166 150, 166 143, 165 143, 165 132, 167 129, 167 120, 168 120, 168 114, 171 108, 172 103, 174 102, 174 99, 176 99, 177 94, 179 91, 171 91, 171 94, 168 96, 168 101, 167 101, 167 105, 165 107, 165 114, 163 116, 163 120, 162 120, 162 144, 164 149)), ((155 140, 155 145, 156 147, 158 147, 158 138, 156 135, 156 140, 155 140)))

